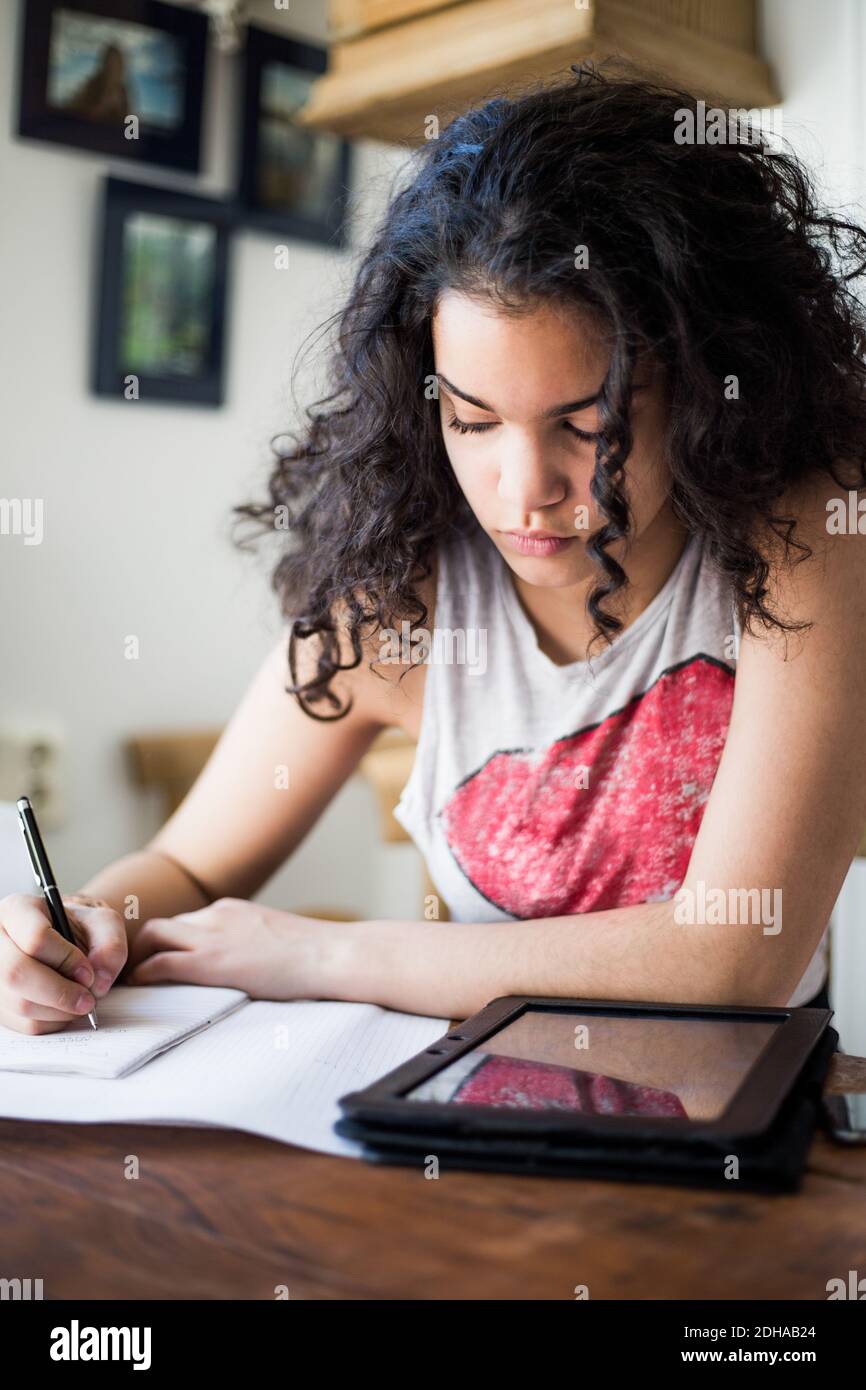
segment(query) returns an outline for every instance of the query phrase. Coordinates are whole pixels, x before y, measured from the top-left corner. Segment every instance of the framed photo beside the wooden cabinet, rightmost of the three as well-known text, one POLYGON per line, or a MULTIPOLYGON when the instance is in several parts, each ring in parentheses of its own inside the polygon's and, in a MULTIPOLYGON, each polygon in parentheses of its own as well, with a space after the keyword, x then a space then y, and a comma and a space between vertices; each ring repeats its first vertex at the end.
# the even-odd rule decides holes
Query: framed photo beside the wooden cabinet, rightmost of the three
POLYGON ((249 227, 343 246, 349 140, 295 121, 327 65, 317 44, 247 26, 238 211, 249 227))

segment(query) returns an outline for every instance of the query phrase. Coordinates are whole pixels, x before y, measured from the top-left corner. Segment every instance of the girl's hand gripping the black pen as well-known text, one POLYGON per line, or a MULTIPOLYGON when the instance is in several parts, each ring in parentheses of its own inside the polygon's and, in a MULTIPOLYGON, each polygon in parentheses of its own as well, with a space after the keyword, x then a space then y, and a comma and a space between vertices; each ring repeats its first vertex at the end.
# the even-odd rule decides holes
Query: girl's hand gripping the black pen
POLYGON ((72 934, 51 926, 44 898, 0 898, 0 1024, 17 1033, 58 1033, 85 1017, 126 963, 124 919, 108 903, 63 899, 72 934), (85 954, 86 952, 86 954, 85 954))

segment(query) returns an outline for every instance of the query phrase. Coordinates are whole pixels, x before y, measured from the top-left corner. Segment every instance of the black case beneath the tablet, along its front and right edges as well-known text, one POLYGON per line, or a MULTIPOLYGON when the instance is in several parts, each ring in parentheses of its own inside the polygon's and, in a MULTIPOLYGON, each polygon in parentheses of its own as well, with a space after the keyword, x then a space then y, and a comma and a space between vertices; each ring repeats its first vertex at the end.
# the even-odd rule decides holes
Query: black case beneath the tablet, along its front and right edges
POLYGON ((359 1140, 361 1158, 374 1163, 423 1168, 428 1155, 446 1168, 481 1172, 530 1173, 552 1177, 603 1177, 628 1183, 669 1183, 790 1193, 801 1186, 816 1125, 822 1091, 838 1033, 827 1027, 767 1129, 756 1136, 726 1140, 678 1138, 669 1143, 560 1134, 443 1134, 435 1129, 399 1129, 345 1115, 335 1130, 359 1140), (740 1161, 738 1177, 726 1177, 727 1155, 740 1161))

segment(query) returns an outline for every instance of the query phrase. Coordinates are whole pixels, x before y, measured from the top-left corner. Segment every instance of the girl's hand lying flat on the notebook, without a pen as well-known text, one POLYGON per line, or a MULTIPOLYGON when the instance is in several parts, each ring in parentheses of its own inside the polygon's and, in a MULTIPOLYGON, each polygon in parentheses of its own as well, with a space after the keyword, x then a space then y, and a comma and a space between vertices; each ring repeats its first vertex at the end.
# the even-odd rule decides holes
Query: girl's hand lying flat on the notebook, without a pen
POLYGON ((213 984, 252 999, 322 999, 325 963, 343 923, 299 917, 245 898, 218 898, 197 912, 149 917, 129 947, 121 984, 213 984))

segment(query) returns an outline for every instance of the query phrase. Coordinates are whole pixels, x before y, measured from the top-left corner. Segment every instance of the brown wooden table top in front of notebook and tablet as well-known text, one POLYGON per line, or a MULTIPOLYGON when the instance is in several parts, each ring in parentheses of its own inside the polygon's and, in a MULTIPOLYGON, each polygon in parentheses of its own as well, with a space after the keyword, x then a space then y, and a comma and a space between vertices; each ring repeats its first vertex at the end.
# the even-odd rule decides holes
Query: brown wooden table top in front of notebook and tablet
MULTIPOLYGON (((837 1055, 828 1091, 866 1090, 837 1055)), ((866 1275, 866 1147, 801 1193, 420 1172, 235 1130, 0 1120, 0 1277, 56 1298, 796 1298, 866 1275), (140 1176, 125 1177, 131 1155, 140 1176)))

